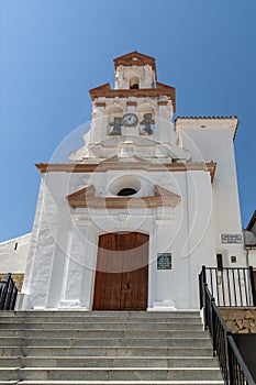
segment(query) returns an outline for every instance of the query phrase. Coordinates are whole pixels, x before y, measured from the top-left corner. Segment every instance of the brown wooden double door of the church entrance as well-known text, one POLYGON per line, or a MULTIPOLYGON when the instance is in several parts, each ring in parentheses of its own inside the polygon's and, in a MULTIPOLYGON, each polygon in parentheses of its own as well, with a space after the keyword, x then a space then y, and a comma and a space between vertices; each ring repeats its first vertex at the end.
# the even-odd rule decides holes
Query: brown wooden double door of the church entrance
POLYGON ((148 239, 138 232, 99 238, 93 310, 146 310, 148 239))

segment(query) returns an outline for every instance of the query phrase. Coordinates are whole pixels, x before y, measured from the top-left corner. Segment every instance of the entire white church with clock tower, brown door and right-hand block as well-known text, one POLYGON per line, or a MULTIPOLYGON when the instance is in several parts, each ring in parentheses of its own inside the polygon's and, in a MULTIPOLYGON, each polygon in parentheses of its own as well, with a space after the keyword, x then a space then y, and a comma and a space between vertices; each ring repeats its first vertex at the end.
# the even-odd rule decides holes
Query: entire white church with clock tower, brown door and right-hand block
POLYGON ((176 118, 156 63, 114 59, 91 128, 42 184, 20 309, 199 308, 202 265, 246 266, 233 141, 238 119, 176 118), (220 262, 221 260, 221 262, 220 262))

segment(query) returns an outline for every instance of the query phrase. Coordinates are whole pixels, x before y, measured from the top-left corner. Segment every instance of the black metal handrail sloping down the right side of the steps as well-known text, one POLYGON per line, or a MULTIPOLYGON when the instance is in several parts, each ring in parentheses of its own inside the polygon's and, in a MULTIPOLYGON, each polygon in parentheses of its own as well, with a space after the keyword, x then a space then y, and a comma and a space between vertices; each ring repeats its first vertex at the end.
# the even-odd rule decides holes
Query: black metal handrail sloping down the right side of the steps
MULTIPOLYGON (((203 273, 204 274, 204 273, 203 273)), ((200 280, 203 277, 200 276, 200 280)), ((237 346, 227 329, 221 312, 215 304, 214 297, 203 284, 200 288, 201 308, 203 308, 204 329, 208 329, 212 339, 213 355, 219 360, 222 375, 226 385, 255 385, 237 346)))

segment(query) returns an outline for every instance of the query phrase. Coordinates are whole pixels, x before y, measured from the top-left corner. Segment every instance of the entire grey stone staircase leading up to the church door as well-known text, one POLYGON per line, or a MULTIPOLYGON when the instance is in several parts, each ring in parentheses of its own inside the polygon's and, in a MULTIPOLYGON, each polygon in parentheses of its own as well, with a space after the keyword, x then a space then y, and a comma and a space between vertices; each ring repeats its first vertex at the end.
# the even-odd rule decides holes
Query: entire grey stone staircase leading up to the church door
POLYGON ((198 312, 1 311, 0 384, 223 384, 198 312))

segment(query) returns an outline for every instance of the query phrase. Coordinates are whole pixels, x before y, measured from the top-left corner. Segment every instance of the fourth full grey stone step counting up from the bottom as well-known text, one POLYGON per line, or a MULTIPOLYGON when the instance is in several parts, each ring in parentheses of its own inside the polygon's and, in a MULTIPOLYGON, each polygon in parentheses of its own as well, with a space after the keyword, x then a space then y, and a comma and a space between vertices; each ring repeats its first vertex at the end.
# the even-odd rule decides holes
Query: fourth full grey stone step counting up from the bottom
POLYGON ((19 338, 2 337, 1 346, 162 346, 210 348, 209 338, 19 338))

